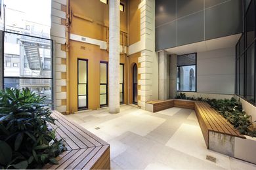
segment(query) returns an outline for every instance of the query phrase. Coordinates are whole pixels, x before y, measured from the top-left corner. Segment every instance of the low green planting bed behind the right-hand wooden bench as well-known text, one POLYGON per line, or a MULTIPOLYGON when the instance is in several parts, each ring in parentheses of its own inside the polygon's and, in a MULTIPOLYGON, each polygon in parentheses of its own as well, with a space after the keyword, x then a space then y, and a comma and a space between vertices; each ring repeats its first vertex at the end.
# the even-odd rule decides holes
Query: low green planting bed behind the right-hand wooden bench
POLYGON ((238 129, 241 134, 256 137, 256 129, 251 122, 251 116, 245 113, 240 102, 236 101, 234 97, 231 99, 203 99, 202 97, 194 99, 194 97, 186 97, 185 93, 181 93, 175 98, 206 101, 213 109, 226 118, 230 124, 238 129))

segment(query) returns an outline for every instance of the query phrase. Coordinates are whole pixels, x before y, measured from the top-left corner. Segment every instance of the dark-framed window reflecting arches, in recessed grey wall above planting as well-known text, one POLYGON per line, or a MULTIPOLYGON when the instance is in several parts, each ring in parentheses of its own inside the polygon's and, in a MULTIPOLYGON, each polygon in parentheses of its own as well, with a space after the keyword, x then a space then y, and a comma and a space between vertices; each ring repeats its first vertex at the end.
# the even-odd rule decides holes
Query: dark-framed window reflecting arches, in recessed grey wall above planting
POLYGON ((196 92, 196 53, 177 57, 177 91, 196 92))

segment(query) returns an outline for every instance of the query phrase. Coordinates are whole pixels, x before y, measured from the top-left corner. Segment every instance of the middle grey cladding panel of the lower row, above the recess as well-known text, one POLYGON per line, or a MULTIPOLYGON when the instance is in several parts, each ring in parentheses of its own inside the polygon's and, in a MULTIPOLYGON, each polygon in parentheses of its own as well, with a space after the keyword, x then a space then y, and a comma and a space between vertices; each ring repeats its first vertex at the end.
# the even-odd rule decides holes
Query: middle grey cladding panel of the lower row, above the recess
POLYGON ((177 46, 203 41, 203 11, 177 20, 177 46))

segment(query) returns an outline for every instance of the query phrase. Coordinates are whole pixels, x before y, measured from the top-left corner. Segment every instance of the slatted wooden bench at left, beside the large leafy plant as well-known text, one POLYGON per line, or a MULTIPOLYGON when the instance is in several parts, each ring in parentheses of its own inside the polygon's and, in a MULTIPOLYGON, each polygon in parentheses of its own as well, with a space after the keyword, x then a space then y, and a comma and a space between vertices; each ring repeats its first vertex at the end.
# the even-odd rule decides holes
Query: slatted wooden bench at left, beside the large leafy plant
POLYGON ((67 150, 56 158, 57 165, 48 163, 43 169, 110 169, 110 144, 57 111, 51 116, 57 120, 51 126, 64 139, 67 150))

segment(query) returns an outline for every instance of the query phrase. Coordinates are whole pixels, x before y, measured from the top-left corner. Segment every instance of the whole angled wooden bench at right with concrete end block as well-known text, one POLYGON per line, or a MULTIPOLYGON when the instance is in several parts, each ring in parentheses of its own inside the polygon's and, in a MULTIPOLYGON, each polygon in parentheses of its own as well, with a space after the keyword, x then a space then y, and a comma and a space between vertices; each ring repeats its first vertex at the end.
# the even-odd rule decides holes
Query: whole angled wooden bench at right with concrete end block
POLYGON ((194 109, 205 144, 210 150, 234 157, 234 137, 245 139, 244 135, 240 135, 232 124, 206 102, 171 99, 167 101, 149 101, 146 104, 146 110, 151 112, 158 112, 171 107, 194 109))

